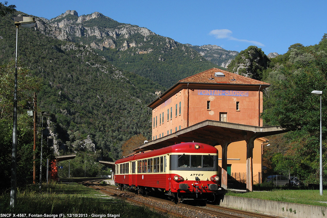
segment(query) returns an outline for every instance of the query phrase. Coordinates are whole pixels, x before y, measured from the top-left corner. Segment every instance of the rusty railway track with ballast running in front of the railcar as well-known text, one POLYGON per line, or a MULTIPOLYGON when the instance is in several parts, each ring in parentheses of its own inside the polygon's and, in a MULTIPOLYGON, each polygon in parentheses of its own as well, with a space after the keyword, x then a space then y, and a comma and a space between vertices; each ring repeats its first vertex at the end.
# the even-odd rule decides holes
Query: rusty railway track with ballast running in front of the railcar
POLYGON ((230 209, 217 205, 206 204, 205 206, 192 206, 188 204, 175 204, 170 200, 156 197, 145 197, 136 195, 133 192, 120 191, 120 189, 111 186, 100 186, 98 180, 83 182, 91 188, 100 190, 108 195, 116 196, 134 204, 144 205, 146 207, 161 211, 175 217, 194 218, 194 217, 226 217, 226 218, 277 218, 264 214, 253 213, 238 209, 230 209), (147 199, 147 200, 146 200, 147 199), (149 200, 151 199, 151 200, 149 200))

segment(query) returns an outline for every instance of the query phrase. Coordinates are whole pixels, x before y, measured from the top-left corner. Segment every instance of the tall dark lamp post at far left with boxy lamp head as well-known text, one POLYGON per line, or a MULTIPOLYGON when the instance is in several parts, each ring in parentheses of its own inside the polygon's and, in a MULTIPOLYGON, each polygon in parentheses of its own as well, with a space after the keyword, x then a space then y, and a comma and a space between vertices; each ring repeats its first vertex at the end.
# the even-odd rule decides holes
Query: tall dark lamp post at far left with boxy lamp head
POLYGON ((34 27, 35 19, 33 17, 15 17, 16 26, 16 64, 15 64, 15 89, 14 89, 14 116, 12 128, 12 159, 11 159, 11 189, 10 189, 10 206, 14 207, 16 203, 16 181, 17 181, 17 48, 18 48, 18 28, 34 27))

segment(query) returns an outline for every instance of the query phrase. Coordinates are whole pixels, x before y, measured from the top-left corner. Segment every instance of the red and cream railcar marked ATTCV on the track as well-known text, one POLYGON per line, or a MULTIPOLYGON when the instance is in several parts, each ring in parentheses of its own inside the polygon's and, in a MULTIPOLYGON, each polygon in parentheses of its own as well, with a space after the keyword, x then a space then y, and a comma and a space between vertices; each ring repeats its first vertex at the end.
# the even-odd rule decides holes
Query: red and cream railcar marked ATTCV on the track
POLYGON ((115 162, 118 187, 162 191, 178 201, 211 198, 218 181, 218 151, 203 143, 175 144, 115 162))

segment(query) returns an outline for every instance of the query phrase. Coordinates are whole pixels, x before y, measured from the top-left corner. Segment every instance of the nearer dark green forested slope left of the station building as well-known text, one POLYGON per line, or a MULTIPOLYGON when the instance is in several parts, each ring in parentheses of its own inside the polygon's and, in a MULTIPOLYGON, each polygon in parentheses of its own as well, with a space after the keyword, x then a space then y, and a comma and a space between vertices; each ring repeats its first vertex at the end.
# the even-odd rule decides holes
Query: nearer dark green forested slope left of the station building
MULTIPOLYGON (((0 29, 8 30, 0 37, 4 64, 14 58, 12 18, 3 17, 0 29)), ((90 135, 105 159, 117 159, 120 146, 131 136, 150 138, 146 104, 154 99, 155 90, 163 89, 159 84, 119 70, 90 46, 53 39, 34 29, 19 29, 19 55, 30 75, 43 80, 38 111, 50 111, 52 130, 68 151, 74 146, 78 150, 77 142, 90 135), (77 131, 78 138, 73 134, 77 131)))

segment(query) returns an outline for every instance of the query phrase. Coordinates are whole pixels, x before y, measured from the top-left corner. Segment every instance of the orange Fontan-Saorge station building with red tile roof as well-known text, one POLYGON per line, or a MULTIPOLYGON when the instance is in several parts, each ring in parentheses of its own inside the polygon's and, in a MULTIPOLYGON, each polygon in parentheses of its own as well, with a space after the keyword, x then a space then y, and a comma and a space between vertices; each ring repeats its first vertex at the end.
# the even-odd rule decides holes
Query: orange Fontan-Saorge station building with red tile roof
MULTIPOLYGON (((152 108, 152 140, 168 136, 204 120, 262 126, 263 89, 269 83, 212 68, 177 82, 148 107, 152 108)), ((253 174, 262 172, 262 146, 266 139, 254 141, 253 174)), ((267 144, 267 143, 266 143, 267 144)), ((222 147, 219 151, 221 167, 222 147)), ((227 173, 246 180, 247 144, 237 141, 228 145, 227 173)))

